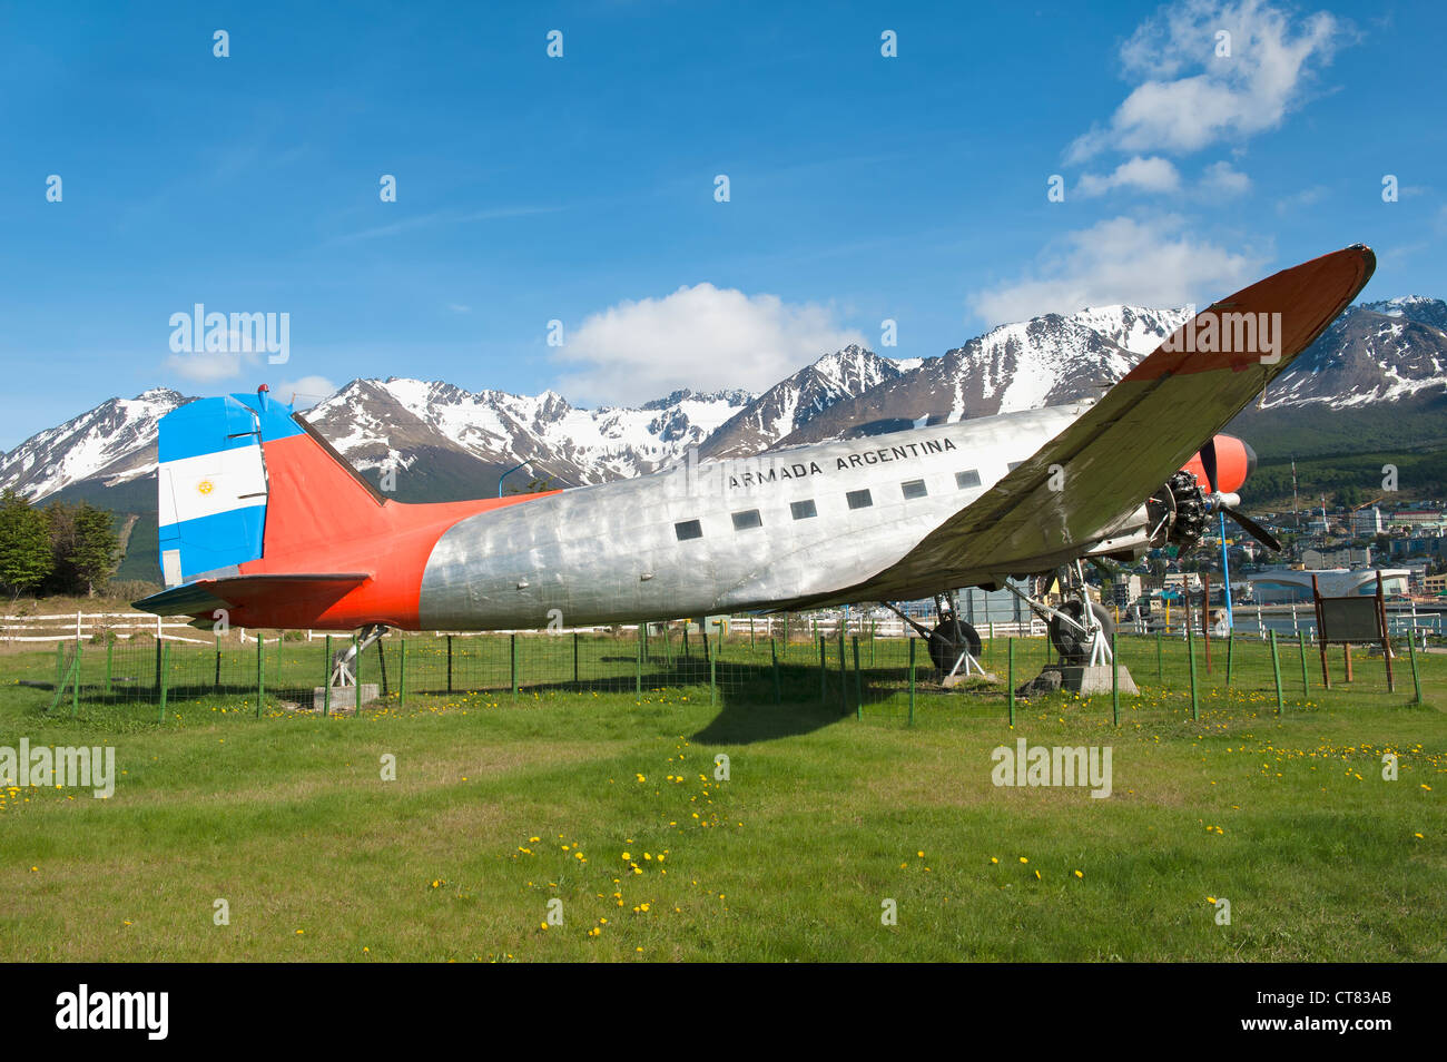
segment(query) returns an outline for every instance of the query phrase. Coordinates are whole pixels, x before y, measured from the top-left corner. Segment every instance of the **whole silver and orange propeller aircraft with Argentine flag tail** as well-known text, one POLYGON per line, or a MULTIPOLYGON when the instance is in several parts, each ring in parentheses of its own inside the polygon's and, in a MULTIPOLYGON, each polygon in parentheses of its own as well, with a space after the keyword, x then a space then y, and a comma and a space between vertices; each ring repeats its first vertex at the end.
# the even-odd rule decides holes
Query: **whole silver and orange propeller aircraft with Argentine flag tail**
MULTIPOLYGON (((778 450, 535 495, 408 505, 372 488, 289 407, 207 398, 161 421, 161 567, 136 602, 210 625, 535 629, 933 596, 930 655, 980 641, 956 587, 1010 589, 1062 657, 1108 663, 1082 561, 1188 548, 1233 512, 1256 456, 1217 433, 1356 298, 1365 246, 1213 304, 1098 401, 778 450), (1035 583, 1030 583, 1032 586, 1035 583), (1053 585, 1053 582, 1052 582, 1053 585)), ((347 650, 347 654, 355 650, 347 650)), ((349 658, 349 657, 347 657, 349 658)), ((339 673, 347 671, 339 655, 339 673)))

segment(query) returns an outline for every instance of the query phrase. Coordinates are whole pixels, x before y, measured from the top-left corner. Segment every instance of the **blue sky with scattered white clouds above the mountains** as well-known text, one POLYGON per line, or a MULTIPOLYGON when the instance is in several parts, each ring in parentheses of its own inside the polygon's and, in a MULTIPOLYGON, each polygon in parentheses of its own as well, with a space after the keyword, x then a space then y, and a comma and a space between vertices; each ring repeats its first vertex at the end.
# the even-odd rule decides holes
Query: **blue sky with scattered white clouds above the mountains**
POLYGON ((1354 242, 1447 295, 1438 6, 777 7, 4 9, 0 449, 155 385, 761 389, 1354 242), (195 302, 289 360, 174 354, 195 302))

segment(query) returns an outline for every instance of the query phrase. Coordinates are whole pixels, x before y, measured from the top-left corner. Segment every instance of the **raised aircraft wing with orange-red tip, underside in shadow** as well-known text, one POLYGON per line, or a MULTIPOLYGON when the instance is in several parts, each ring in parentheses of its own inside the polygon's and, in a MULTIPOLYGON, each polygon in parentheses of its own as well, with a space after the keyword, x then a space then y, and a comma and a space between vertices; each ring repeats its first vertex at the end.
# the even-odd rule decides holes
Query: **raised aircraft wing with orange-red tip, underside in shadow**
MULTIPOLYGON (((967 573, 1040 572, 1108 537, 1351 304, 1376 268, 1353 246, 1294 266, 1201 311, 1084 417, 988 492, 920 540, 900 561, 838 600, 888 600, 961 585, 967 573), (1276 360, 1220 352, 1231 314, 1266 314, 1276 360), (1279 317, 1272 317, 1279 314, 1279 317), (1205 340, 1215 321, 1215 341, 1205 340), (1278 324, 1279 323, 1279 324, 1278 324), (1189 336, 1188 336, 1189 333, 1189 336), (1200 349, 1213 346, 1210 353, 1200 349), (1189 347, 1189 349, 1181 349, 1189 347), (1052 488, 1052 470, 1061 473, 1052 488)), ((1269 354, 1268 354, 1269 359, 1269 354)))

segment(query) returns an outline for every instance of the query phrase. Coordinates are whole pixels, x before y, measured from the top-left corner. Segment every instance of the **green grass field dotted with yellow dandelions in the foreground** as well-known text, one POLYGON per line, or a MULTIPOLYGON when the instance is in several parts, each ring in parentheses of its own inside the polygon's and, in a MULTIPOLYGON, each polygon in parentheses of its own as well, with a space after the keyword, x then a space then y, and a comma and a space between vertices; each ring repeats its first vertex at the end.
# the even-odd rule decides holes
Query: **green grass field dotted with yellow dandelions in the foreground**
MULTIPOLYGON (((988 692, 922 689, 910 725, 899 655, 865 660, 862 709, 852 673, 820 703, 810 651, 783 703, 741 650, 757 673, 718 703, 650 668, 642 696, 421 692, 356 718, 191 689, 165 723, 46 715, 16 680, 54 655, 0 657, 0 747, 110 744, 120 773, 109 800, 0 791, 0 959, 1447 959, 1447 657, 1418 657, 1414 706, 1405 658, 1395 694, 1365 658, 1331 692, 1312 663, 1304 693, 1292 645, 1278 715, 1265 647, 1230 690, 1217 647, 1192 721, 1184 647, 1158 684, 1132 642, 1145 696, 1119 728, 1108 696, 1055 694, 1011 731, 988 692), (994 786, 1016 738, 1111 747, 1111 796, 994 786)), ((1019 642, 1017 681, 1043 657, 1019 642)))

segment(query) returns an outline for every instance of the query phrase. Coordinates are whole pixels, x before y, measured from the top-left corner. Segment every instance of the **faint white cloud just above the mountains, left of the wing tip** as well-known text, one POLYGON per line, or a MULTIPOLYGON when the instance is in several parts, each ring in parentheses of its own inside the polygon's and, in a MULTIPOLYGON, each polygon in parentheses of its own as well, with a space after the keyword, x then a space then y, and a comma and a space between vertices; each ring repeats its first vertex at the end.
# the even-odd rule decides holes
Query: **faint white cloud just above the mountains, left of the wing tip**
POLYGON ((1176 307, 1236 291, 1265 262, 1198 239, 1178 214, 1114 217, 1069 233, 1030 275, 978 291, 967 304, 987 324, 1120 302, 1176 307))

